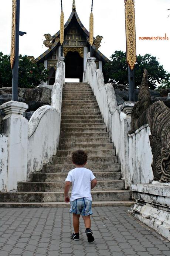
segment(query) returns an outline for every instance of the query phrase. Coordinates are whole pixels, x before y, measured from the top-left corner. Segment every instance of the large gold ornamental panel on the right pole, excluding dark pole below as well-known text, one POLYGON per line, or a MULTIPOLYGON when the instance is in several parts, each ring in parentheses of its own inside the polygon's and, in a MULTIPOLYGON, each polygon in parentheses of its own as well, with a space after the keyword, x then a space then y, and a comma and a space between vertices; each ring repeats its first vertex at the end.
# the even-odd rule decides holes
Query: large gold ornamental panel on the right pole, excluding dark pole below
POLYGON ((135 0, 125 0, 126 60, 131 70, 136 63, 135 0))

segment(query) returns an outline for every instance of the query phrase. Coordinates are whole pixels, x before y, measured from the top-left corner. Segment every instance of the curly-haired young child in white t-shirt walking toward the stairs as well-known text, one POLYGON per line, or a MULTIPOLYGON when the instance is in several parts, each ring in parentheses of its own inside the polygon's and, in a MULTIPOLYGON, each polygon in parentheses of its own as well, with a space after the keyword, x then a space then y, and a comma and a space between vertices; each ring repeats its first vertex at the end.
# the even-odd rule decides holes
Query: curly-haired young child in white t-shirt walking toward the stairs
POLYGON ((97 180, 92 171, 86 169, 84 166, 87 162, 87 154, 82 150, 76 150, 72 153, 72 162, 75 168, 69 171, 65 179, 64 200, 70 202, 70 213, 73 214, 73 227, 74 233, 71 238, 79 240, 79 218, 80 214, 84 220, 86 227, 86 236, 89 243, 94 242, 94 236, 91 230, 90 215, 93 213, 91 210, 92 197, 91 189, 97 184, 97 180), (69 189, 72 183, 71 198, 68 196, 69 189))

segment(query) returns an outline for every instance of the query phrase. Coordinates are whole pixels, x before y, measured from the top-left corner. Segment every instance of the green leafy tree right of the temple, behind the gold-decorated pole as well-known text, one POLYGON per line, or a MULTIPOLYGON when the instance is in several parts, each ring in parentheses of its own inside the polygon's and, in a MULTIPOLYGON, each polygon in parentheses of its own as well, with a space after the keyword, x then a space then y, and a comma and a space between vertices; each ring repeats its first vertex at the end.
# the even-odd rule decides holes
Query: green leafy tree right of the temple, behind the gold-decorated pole
MULTIPOLYGON (((115 51, 110 57, 111 62, 105 64, 105 82, 128 85, 128 64, 126 53, 115 51)), ((139 87, 144 69, 148 71, 148 84, 150 89, 156 89, 156 84, 168 84, 170 74, 159 64, 156 57, 151 54, 138 55, 135 65, 135 86, 139 87)))

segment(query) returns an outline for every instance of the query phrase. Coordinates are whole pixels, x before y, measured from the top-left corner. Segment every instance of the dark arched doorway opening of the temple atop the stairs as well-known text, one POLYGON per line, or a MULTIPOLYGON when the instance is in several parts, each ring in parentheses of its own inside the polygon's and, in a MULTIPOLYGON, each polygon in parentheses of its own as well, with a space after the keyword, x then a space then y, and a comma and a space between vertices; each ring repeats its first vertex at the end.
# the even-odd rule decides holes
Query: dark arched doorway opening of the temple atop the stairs
POLYGON ((65 56, 65 78, 79 78, 82 82, 83 65, 83 58, 78 52, 68 52, 65 56))

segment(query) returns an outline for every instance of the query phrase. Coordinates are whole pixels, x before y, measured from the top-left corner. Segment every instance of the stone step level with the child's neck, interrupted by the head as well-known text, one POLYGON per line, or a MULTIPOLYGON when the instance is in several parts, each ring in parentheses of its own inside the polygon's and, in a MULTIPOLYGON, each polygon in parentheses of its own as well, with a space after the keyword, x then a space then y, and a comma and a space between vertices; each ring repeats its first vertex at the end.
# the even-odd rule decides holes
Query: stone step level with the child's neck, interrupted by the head
MULTIPOLYGON (((119 172, 121 169, 120 163, 87 163, 85 165, 87 169, 92 172, 119 172)), ((55 164, 55 165, 43 165, 43 173, 58 173, 69 172, 74 169, 75 165, 70 164, 55 164)))

